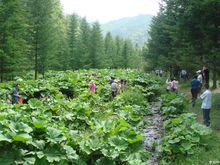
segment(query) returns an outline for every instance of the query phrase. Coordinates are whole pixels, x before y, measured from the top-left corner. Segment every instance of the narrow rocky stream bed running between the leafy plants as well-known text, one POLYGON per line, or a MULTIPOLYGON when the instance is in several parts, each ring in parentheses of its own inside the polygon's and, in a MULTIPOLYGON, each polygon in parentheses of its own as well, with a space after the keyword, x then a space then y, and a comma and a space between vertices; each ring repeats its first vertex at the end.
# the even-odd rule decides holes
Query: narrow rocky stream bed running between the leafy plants
POLYGON ((154 155, 148 160, 148 165, 157 165, 160 153, 159 143, 163 135, 163 120, 159 113, 160 103, 151 104, 152 115, 145 116, 147 125, 144 127, 145 147, 147 150, 154 152, 154 155))

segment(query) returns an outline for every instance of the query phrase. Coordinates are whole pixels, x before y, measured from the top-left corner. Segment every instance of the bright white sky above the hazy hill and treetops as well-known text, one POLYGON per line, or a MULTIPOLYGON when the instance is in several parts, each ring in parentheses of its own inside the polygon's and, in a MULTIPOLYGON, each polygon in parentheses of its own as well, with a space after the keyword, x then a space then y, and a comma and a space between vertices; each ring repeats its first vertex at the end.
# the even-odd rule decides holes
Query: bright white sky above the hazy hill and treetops
POLYGON ((61 0, 65 14, 76 13, 88 21, 108 21, 139 14, 156 15, 160 0, 61 0))

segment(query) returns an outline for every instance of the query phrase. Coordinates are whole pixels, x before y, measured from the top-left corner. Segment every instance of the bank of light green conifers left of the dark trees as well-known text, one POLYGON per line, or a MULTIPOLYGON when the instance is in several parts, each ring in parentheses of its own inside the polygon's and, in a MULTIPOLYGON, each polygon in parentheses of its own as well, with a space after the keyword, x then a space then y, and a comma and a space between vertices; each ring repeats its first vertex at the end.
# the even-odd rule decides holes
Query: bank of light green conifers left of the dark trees
POLYGON ((0 1, 0 78, 34 71, 136 68, 141 49, 128 39, 103 36, 98 22, 65 16, 60 0, 0 1))

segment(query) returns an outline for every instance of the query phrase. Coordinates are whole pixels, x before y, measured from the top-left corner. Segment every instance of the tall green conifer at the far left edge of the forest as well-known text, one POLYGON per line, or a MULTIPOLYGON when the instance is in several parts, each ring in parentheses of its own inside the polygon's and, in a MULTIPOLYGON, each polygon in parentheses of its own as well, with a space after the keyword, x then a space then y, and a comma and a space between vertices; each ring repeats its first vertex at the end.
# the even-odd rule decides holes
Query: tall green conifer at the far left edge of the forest
POLYGON ((21 0, 0 1, 0 78, 13 77, 26 68, 28 28, 25 3, 21 0))

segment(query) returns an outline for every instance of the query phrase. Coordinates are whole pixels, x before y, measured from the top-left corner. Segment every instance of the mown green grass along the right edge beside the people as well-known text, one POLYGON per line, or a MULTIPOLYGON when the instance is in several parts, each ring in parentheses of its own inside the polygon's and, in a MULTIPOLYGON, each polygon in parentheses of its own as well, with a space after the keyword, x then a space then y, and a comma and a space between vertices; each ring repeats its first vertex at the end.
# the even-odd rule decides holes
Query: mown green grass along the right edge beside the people
MULTIPOLYGON (((187 97, 191 98, 190 88, 187 84, 180 86, 180 92, 185 93, 187 97)), ((201 111, 201 100, 196 101, 195 107, 188 105, 189 111, 197 114, 198 122, 203 123, 203 116, 201 111)), ((220 165, 220 93, 213 92, 212 94, 212 109, 210 112, 211 129, 213 133, 202 139, 202 146, 198 146, 195 154, 186 157, 184 162, 178 164, 186 165, 220 165)))

